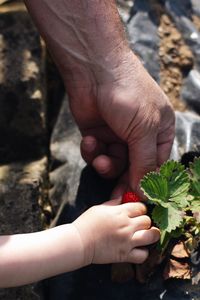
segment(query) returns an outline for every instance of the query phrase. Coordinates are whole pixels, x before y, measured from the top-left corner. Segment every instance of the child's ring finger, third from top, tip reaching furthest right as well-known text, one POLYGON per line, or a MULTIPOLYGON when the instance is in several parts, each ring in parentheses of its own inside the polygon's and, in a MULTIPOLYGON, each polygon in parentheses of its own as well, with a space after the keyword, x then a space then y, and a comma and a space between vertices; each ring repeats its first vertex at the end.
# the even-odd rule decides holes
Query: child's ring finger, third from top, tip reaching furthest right
POLYGON ((136 231, 133 234, 133 247, 142 247, 156 243, 160 239, 160 231, 156 227, 149 230, 136 231))

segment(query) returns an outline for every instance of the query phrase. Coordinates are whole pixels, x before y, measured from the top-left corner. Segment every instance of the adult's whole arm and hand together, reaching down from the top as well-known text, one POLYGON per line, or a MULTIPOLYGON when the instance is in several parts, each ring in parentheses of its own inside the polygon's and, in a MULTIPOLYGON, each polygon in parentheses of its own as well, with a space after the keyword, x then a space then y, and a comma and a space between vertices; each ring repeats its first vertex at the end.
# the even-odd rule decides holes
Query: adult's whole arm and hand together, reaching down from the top
POLYGON ((143 175, 170 154, 174 113, 129 48, 115 0, 25 0, 61 72, 84 159, 110 178, 143 175))

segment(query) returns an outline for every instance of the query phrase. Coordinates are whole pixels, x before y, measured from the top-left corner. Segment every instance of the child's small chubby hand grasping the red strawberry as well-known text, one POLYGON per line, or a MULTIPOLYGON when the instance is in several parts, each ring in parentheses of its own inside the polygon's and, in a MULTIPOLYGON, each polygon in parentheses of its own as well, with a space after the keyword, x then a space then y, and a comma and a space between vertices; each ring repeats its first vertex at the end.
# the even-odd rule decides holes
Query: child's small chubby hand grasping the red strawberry
POLYGON ((141 264, 149 254, 146 246, 159 240, 160 231, 151 227, 144 204, 119 204, 111 200, 93 206, 72 223, 83 245, 83 265, 141 264))

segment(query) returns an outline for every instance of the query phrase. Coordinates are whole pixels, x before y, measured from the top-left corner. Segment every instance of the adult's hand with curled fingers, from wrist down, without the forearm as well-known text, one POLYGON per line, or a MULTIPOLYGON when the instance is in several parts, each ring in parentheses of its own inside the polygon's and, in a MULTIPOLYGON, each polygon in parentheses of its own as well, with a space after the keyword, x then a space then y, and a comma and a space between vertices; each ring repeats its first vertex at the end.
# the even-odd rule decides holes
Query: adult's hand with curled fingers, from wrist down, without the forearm
POLYGON ((129 184, 168 159, 174 139, 174 112, 168 98, 129 53, 112 72, 112 81, 76 88, 72 113, 83 135, 81 152, 106 178, 129 170, 129 184))

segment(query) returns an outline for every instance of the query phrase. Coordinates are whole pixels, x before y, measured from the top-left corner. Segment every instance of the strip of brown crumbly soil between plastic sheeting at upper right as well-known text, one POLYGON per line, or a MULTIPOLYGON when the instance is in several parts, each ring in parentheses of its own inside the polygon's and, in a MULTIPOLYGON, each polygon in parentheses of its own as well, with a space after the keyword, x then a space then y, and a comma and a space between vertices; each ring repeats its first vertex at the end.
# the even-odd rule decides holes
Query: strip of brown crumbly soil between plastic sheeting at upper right
POLYGON ((187 107, 181 101, 180 91, 184 75, 193 66, 192 52, 166 14, 160 18, 158 34, 160 37, 160 85, 169 97, 174 109, 185 111, 187 107))

